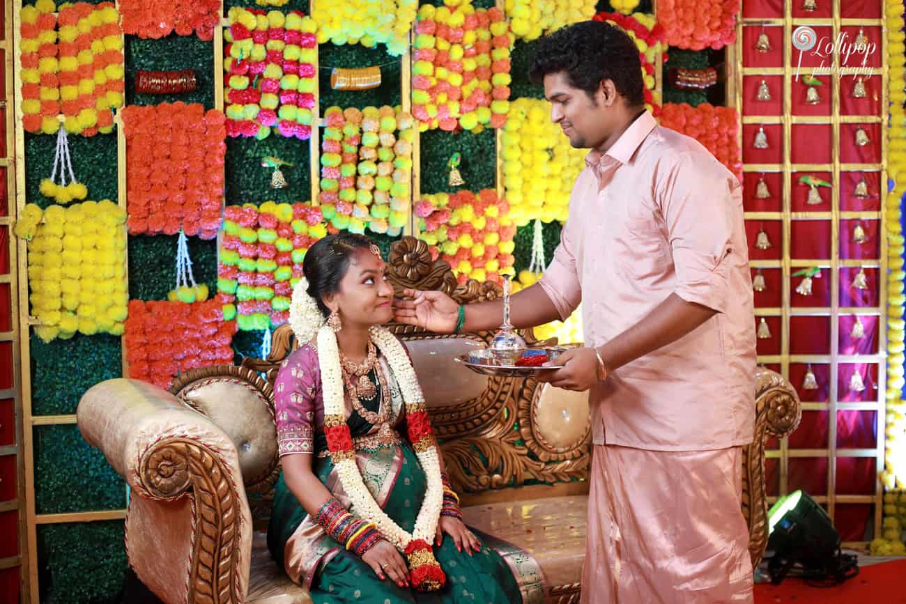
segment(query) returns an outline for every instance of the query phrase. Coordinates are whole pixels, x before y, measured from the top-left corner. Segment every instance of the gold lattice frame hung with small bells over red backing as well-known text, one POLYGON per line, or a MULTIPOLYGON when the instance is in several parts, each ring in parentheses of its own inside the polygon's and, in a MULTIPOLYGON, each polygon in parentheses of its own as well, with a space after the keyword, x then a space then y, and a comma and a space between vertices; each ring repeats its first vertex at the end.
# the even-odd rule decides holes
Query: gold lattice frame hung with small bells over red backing
MULTIPOLYGON (((833 91, 833 105, 830 116, 795 116, 792 114, 792 86, 790 85, 791 77, 795 72, 794 52, 792 45, 793 31, 798 25, 814 25, 831 27, 833 39, 841 32, 843 26, 872 26, 880 27, 882 39, 874 41, 878 44, 878 51, 882 53, 882 65, 879 68, 872 69, 870 72, 860 70, 861 73, 871 73, 872 78, 881 79, 880 94, 882 111, 886 111, 888 106, 888 75, 887 75, 887 31, 886 31, 886 6, 881 0, 877 0, 882 7, 881 18, 878 19, 843 19, 841 17, 841 3, 845 0, 823 0, 824 2, 833 3, 833 15, 829 18, 799 18, 793 17, 794 2, 785 2, 785 14, 782 18, 746 18, 740 13, 737 19, 737 41, 736 45, 728 46, 727 66, 728 66, 728 100, 735 102, 737 111, 741 116, 742 124, 781 124, 783 130, 783 161, 780 164, 747 164, 743 167, 744 172, 780 172, 783 179, 783 206, 781 212, 746 212, 747 220, 780 220, 782 221, 782 258, 780 260, 757 260, 752 261, 750 265, 753 268, 773 268, 781 270, 781 287, 782 287, 782 305, 779 308, 757 308, 757 317, 780 317, 781 320, 781 352, 778 355, 759 356, 758 360, 763 364, 775 364, 780 366, 780 373, 784 378, 789 379, 789 367, 791 363, 822 363, 827 364, 830 368, 830 383, 828 386, 828 402, 814 403, 804 402, 802 408, 804 411, 827 411, 828 414, 828 436, 827 447, 822 449, 790 449, 788 437, 780 439, 778 449, 766 451, 767 458, 775 458, 779 462, 779 495, 789 493, 788 468, 791 458, 803 457, 822 457, 827 459, 828 476, 827 476, 827 495, 813 496, 817 503, 823 503, 824 507, 834 518, 837 503, 872 503, 874 505, 873 527, 874 535, 881 532, 882 521, 882 498, 883 489, 880 480, 875 481, 874 494, 837 494, 836 493, 836 460, 840 457, 873 457, 875 459, 875 468, 878 473, 882 472, 884 467, 884 427, 885 427, 885 401, 884 392, 886 390, 886 364, 883 351, 887 349, 887 312, 884 301, 887 298, 887 282, 884 275, 887 272, 887 239, 884 236, 884 224, 887 218, 884 205, 884 190, 887 182, 887 133, 886 119, 884 116, 841 116, 840 114, 840 91, 841 79, 848 74, 855 72, 853 68, 840 68, 839 56, 834 54, 834 63, 831 73, 833 85, 830 90, 833 91), (742 47, 743 28, 752 25, 766 25, 774 30, 782 29, 783 31, 783 53, 784 66, 778 68, 762 67, 744 67, 743 59, 746 53, 754 52, 751 48, 742 47), (784 96, 783 96, 783 114, 777 117, 745 116, 742 113, 743 107, 743 76, 746 75, 780 75, 784 77, 784 96), (791 139, 792 126, 794 124, 827 124, 832 125, 832 164, 793 164, 791 160, 791 139), (840 125, 843 123, 880 123, 881 125, 881 163, 879 164, 843 164, 840 161, 840 125), (863 170, 880 172, 880 183, 882 190, 879 194, 882 197, 879 211, 859 211, 859 212, 842 212, 840 210, 840 173, 842 171, 863 170), (830 172, 833 175, 833 188, 830 212, 808 212, 800 213, 792 211, 791 186, 792 173, 805 171, 822 171, 830 172), (831 221, 831 258, 830 260, 813 260, 813 259, 792 259, 790 250, 791 225, 794 218, 810 218, 816 220, 831 221), (841 260, 840 259, 840 221, 841 219, 862 218, 867 220, 879 221, 878 238, 879 258, 877 260, 841 260), (829 307, 793 307, 790 300, 792 273, 803 268, 818 266, 822 269, 829 269, 831 278, 831 305, 829 307), (879 272, 878 279, 878 300, 879 305, 876 307, 847 307, 840 306, 840 267, 859 267, 877 268, 879 272), (790 317, 793 316, 829 316, 831 321, 831 351, 829 355, 791 355, 790 350, 790 317), (878 317, 878 353, 871 355, 853 355, 841 356, 839 354, 839 330, 841 316, 861 315, 878 317), (864 402, 838 402, 838 375, 839 365, 841 363, 876 363, 878 365, 878 382, 877 391, 878 399, 875 401, 864 402), (875 427, 877 441, 872 448, 850 448, 842 449, 837 447, 837 416, 839 411, 858 410, 858 411, 875 411, 875 427)), ((776 40, 776 38, 774 38, 776 40)), ((805 68, 804 68, 805 71, 805 68)), ((744 145, 751 144, 751 141, 742 139, 742 128, 739 130, 739 146, 744 149, 744 145)), ((776 242, 775 242, 776 243, 776 242)), ((775 334, 776 335, 776 334, 775 334)), ((776 497, 770 497, 769 501, 776 501, 776 497)), ((844 545, 851 547, 866 547, 867 542, 847 542, 844 545)))

